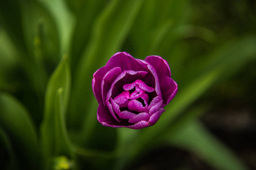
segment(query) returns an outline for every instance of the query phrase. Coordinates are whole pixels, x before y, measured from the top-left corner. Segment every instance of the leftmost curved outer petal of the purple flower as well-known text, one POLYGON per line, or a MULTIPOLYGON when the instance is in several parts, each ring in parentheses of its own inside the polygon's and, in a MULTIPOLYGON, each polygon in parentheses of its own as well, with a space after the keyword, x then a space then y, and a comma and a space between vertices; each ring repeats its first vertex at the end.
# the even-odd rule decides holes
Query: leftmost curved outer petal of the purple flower
POLYGON ((102 95, 101 95, 101 81, 106 73, 108 73, 109 70, 111 70, 112 67, 104 66, 98 69, 94 74, 93 74, 93 80, 92 80, 92 90, 93 94, 96 97, 98 103, 101 103, 102 101, 102 95))

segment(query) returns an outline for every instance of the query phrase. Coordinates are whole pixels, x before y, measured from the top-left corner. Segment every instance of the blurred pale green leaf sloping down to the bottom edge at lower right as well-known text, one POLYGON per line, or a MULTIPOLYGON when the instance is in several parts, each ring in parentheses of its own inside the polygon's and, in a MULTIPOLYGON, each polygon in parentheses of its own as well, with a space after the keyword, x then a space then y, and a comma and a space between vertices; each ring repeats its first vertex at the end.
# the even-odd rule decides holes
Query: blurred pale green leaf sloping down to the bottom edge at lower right
POLYGON ((179 129, 166 133, 166 142, 189 150, 220 170, 247 169, 221 142, 214 138, 198 121, 187 122, 179 129))

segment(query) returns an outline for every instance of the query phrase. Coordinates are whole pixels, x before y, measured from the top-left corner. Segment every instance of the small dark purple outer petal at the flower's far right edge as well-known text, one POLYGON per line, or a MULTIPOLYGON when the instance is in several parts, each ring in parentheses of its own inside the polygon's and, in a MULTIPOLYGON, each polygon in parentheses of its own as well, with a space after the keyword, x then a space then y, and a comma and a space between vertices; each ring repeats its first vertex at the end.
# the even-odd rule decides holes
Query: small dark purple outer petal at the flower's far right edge
POLYGON ((169 78, 165 77, 163 82, 161 82, 161 91, 162 91, 162 97, 163 97, 163 106, 170 103, 170 101, 174 98, 174 96, 177 93, 177 83, 169 78))

